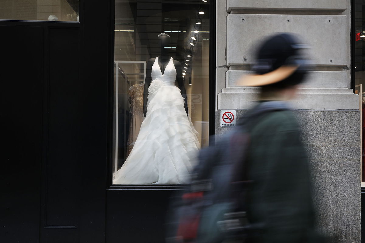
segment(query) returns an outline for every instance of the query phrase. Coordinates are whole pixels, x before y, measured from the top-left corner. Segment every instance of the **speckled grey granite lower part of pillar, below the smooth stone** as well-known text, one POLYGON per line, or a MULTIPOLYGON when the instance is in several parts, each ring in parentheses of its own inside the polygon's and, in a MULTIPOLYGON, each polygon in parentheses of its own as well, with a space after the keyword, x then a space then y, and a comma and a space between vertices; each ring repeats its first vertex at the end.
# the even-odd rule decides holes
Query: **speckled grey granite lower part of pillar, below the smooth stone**
MULTIPOLYGON (((245 111, 236 110, 237 121, 245 111)), ((360 242, 360 111, 293 112, 310 157, 318 229, 331 243, 360 242)), ((216 111, 216 138, 230 129, 220 127, 216 111)))

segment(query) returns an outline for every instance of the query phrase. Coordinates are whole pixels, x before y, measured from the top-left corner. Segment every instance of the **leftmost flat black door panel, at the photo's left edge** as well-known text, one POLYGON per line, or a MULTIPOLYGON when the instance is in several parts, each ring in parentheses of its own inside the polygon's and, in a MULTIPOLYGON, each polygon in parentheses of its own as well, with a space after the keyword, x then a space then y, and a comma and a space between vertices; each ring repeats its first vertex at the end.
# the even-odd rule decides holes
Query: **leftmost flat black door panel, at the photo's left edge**
POLYGON ((43 28, 0 32, 0 241, 39 242, 43 28))

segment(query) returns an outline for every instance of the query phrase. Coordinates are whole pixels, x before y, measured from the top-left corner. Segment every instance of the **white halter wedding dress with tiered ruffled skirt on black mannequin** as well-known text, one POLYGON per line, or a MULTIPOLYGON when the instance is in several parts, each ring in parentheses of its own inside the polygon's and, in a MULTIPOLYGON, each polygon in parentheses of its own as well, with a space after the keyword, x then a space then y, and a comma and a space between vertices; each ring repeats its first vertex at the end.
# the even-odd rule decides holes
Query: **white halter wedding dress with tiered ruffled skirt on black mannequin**
POLYGON ((170 58, 164 74, 158 57, 152 66, 147 114, 127 160, 114 174, 113 184, 186 184, 200 148, 196 130, 175 86, 170 58))

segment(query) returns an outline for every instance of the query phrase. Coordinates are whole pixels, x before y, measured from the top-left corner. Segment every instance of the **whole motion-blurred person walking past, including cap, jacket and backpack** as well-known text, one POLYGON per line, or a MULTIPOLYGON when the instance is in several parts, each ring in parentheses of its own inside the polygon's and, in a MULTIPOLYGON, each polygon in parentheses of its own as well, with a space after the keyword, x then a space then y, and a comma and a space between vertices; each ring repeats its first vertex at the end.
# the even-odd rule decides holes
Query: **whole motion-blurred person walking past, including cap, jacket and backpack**
POLYGON ((254 75, 259 100, 237 128, 202 149, 191 189, 175 203, 168 242, 319 243, 310 166, 288 101, 304 81, 306 45, 289 33, 266 39, 254 75))

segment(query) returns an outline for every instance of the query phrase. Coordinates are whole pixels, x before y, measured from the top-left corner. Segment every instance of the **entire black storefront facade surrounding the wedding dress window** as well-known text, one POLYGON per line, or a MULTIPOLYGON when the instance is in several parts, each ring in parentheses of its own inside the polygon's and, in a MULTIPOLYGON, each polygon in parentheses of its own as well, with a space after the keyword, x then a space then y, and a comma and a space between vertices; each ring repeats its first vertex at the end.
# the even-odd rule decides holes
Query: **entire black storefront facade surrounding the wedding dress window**
MULTIPOLYGON (((81 1, 80 23, 0 21, 0 31, 0 242, 164 242, 168 198, 184 187, 113 187, 108 173, 114 1, 81 1)), ((210 77, 213 98, 214 67, 210 77)))

